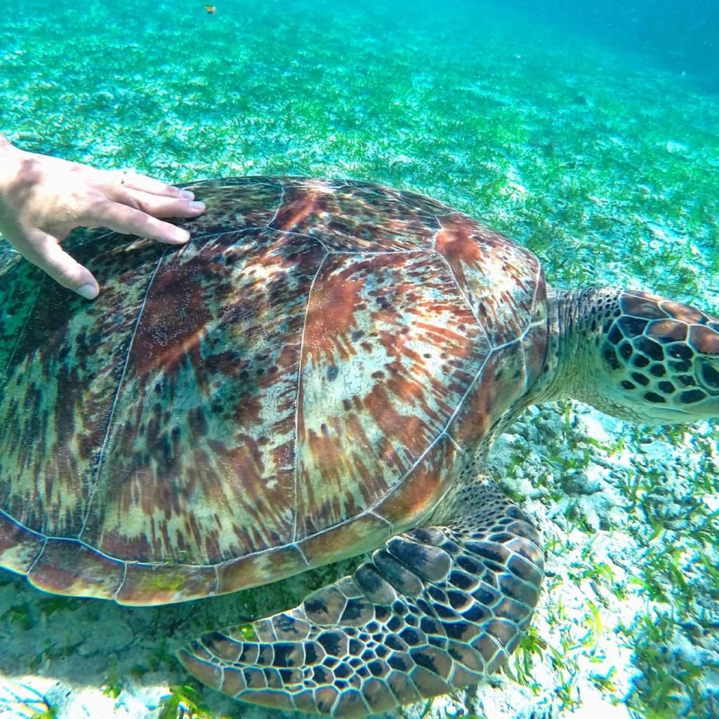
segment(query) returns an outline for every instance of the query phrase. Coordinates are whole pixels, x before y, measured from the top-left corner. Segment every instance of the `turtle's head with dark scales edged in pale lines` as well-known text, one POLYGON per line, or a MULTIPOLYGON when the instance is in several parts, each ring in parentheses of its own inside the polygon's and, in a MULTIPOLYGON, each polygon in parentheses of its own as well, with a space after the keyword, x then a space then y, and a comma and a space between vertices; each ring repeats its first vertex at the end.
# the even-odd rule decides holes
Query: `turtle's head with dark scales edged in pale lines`
POLYGON ((719 417, 719 319, 633 290, 585 290, 577 296, 582 299, 570 304, 587 372, 572 383, 573 396, 640 423, 719 417))

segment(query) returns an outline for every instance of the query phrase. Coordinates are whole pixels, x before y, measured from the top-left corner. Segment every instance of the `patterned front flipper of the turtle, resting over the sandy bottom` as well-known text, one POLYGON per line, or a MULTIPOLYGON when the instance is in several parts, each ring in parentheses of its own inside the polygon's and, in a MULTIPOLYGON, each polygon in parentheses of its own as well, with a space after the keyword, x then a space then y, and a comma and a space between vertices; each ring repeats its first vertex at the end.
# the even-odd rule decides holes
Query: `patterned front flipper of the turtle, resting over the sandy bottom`
POLYGON ((495 672, 539 597, 539 533, 491 485, 459 490, 454 521, 394 536, 298 607, 202 636, 180 661, 245 702, 359 717, 495 672))

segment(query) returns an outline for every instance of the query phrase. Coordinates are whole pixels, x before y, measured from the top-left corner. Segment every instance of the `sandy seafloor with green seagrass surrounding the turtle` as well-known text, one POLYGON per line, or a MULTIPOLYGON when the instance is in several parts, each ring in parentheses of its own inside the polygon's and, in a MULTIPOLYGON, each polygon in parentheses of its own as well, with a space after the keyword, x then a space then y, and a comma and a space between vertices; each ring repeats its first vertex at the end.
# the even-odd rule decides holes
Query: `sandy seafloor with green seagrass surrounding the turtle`
MULTIPOLYGON (((246 173, 413 188, 534 249, 555 285, 719 311, 719 97, 536 19, 433 5, 35 0, 0 18, 1 129, 28 150, 180 182, 246 173)), ((496 476, 544 533, 546 588, 506 672, 395 716, 719 717, 717 423, 528 413, 496 476)), ((267 590, 127 609, 0 578, 0 717, 278 718, 173 650, 279 608, 267 590)), ((286 714, 285 714, 286 715, 286 714)))

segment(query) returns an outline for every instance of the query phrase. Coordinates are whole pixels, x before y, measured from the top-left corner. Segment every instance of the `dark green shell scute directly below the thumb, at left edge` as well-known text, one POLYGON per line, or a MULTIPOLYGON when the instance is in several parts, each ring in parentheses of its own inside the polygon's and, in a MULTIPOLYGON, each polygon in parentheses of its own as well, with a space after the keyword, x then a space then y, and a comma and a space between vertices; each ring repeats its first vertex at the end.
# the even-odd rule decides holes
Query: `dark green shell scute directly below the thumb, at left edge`
MULTIPOLYGON (((92 252, 86 237, 75 235, 74 254, 83 264, 92 252)), ((96 262, 100 275, 111 272, 127 251, 110 245, 96 262)), ((122 273, 106 287, 108 311, 68 298, 67 290, 36 267, 6 267, 17 303, 4 306, 0 314, 0 336, 6 340, 0 346, 0 506, 18 523, 45 535, 77 536, 88 511, 92 468, 147 288, 143 268, 152 267, 162 254, 141 243, 129 252, 137 272, 122 273), (22 317, 22 326, 13 313, 22 317), (76 357, 83 359, 75 362, 76 357)))

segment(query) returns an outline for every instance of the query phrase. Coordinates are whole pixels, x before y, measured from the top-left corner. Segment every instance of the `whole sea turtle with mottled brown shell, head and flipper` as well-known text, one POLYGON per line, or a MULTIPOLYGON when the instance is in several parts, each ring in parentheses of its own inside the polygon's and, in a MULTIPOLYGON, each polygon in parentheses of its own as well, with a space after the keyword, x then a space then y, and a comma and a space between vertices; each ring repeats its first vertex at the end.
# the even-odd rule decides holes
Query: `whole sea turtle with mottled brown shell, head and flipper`
POLYGON ((369 183, 208 180, 180 249, 76 232, 93 303, 0 258, 0 562, 152 605, 372 551, 185 667, 244 701, 361 716, 477 682, 543 577, 493 440, 571 395, 632 421, 719 416, 719 320, 550 290, 441 202, 369 183))

